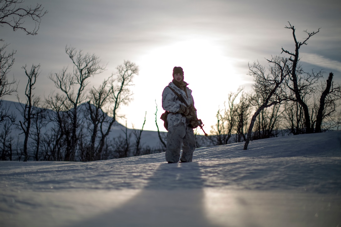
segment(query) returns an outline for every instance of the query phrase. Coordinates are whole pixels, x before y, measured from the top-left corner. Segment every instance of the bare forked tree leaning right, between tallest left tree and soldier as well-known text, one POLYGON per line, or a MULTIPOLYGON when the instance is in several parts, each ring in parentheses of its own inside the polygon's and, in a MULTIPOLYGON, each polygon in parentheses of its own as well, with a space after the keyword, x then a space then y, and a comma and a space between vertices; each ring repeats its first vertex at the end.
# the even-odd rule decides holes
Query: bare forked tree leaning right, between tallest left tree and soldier
POLYGON ((116 67, 117 73, 105 79, 99 88, 92 88, 88 96, 87 111, 91 122, 90 160, 102 159, 102 152, 107 148, 106 138, 117 118, 119 108, 132 100, 133 78, 138 75, 138 66, 130 61, 124 61, 116 67))

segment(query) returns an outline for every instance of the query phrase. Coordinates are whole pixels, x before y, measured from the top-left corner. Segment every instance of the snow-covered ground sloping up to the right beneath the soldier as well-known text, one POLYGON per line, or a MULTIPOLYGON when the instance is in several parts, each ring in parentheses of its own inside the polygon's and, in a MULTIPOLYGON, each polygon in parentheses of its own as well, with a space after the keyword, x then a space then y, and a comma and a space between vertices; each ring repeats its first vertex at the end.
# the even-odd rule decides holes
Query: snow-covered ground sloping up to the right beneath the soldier
POLYGON ((88 163, 0 162, 0 226, 341 227, 341 131, 88 163))

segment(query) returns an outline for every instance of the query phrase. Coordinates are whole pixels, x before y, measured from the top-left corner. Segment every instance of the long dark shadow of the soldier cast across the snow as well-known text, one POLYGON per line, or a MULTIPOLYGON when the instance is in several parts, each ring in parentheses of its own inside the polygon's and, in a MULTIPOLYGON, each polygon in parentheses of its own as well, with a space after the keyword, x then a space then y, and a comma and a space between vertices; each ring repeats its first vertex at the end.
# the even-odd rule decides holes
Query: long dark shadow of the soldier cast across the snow
POLYGON ((71 226, 218 227, 206 217, 199 164, 158 165, 136 196, 113 210, 71 226))

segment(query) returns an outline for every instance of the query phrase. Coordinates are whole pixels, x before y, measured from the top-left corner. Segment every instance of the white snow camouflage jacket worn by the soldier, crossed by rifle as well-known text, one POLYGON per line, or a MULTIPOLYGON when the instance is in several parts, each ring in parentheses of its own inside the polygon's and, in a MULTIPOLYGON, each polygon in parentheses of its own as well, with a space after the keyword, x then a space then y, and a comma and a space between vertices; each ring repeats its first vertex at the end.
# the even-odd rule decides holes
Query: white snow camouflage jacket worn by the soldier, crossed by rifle
MULTIPOLYGON (((169 85, 172 87, 178 94, 180 94, 183 99, 187 102, 187 105, 194 105, 194 100, 192 97, 192 90, 186 87, 188 98, 186 93, 178 88, 173 82, 170 82, 169 85)), ((179 97, 170 89, 165 87, 162 92, 162 108, 164 110, 169 111, 167 116, 168 128, 177 125, 179 123, 186 123, 186 117, 183 116, 181 113, 177 113, 180 109, 180 105, 184 105, 183 102, 180 101, 179 97)))

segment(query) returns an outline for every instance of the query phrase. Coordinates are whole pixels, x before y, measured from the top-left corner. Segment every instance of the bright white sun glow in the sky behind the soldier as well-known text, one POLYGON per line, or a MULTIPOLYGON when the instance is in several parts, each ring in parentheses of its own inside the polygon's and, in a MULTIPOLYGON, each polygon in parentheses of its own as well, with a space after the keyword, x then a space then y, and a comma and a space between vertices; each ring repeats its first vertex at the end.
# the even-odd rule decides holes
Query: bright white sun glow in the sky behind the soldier
MULTIPOLYGON (((198 118, 203 120, 206 132, 209 132, 210 126, 216 123, 217 110, 223 106, 228 93, 235 92, 245 83, 236 74, 236 61, 227 54, 216 41, 209 38, 188 39, 151 49, 137 61, 140 74, 135 80, 132 106, 147 110, 151 115, 155 112, 156 100, 161 113, 162 91, 172 81, 173 67, 181 66, 184 81, 193 90, 198 118)), ((155 116, 147 119, 153 127, 151 130, 155 130, 153 119, 155 116)), ((140 121, 143 122, 143 119, 140 121)), ((158 124, 160 126, 163 122, 160 120, 158 124)))

